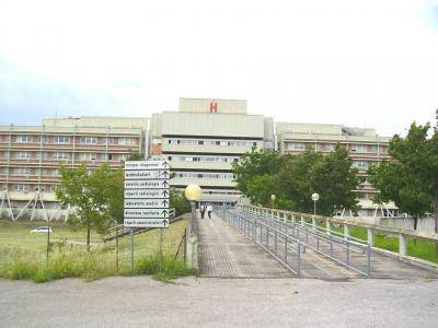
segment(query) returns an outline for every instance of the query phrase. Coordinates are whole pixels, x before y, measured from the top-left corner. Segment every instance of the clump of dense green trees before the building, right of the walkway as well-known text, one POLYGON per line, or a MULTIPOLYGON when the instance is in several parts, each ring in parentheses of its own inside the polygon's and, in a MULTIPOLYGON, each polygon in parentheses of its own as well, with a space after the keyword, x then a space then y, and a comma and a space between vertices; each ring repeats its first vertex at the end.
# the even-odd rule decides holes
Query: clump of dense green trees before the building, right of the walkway
POLYGON ((331 215, 336 208, 358 209, 353 190, 360 178, 341 147, 326 156, 312 149, 298 156, 252 150, 234 163, 233 173, 238 189, 253 203, 270 207, 270 195, 275 194, 278 208, 313 212, 311 195, 318 192, 321 214, 331 215))

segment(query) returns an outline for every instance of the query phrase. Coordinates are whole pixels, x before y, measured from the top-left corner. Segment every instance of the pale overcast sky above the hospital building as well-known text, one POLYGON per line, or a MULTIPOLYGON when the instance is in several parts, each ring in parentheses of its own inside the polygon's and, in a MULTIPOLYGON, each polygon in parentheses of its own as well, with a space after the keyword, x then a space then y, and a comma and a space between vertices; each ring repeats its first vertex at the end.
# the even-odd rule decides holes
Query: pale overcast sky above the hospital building
POLYGON ((438 1, 0 0, 0 125, 181 96, 383 136, 435 122, 438 1))

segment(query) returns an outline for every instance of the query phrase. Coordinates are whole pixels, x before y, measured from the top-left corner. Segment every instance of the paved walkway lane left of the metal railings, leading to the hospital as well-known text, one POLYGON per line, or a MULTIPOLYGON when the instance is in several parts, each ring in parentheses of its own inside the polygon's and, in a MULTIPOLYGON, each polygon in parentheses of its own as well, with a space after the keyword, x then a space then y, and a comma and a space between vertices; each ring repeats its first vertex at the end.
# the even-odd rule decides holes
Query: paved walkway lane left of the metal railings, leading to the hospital
MULTIPOLYGON (((207 216, 207 215, 206 215, 207 216)), ((286 278, 289 272, 223 220, 199 220, 200 273, 217 278, 286 278)))

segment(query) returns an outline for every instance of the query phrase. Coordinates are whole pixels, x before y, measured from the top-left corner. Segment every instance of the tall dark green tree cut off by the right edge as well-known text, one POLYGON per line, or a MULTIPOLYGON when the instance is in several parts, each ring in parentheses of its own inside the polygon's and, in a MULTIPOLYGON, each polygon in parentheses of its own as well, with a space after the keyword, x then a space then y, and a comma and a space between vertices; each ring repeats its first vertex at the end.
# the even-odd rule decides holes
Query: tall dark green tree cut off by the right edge
POLYGON ((394 201, 400 211, 414 219, 435 212, 438 215, 438 136, 427 134, 430 125, 411 125, 406 138, 395 134, 389 144, 390 161, 373 165, 368 171, 369 181, 379 190, 376 201, 394 201))

